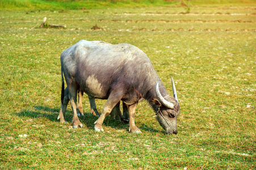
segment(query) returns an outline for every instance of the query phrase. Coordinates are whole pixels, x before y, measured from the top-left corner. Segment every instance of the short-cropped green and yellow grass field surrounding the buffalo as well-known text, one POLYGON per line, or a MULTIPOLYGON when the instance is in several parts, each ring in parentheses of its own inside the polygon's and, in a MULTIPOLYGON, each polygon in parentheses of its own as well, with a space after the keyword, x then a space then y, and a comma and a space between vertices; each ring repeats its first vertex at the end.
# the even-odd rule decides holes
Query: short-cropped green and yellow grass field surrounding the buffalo
POLYGON ((255 8, 0 11, 0 169, 256 169, 255 8), (66 28, 39 28, 45 16, 66 28), (110 117, 96 133, 86 97, 85 126, 72 129, 70 106, 60 124, 60 54, 81 39, 139 47, 170 94, 173 76, 178 134, 164 134, 146 101, 142 134, 110 117))

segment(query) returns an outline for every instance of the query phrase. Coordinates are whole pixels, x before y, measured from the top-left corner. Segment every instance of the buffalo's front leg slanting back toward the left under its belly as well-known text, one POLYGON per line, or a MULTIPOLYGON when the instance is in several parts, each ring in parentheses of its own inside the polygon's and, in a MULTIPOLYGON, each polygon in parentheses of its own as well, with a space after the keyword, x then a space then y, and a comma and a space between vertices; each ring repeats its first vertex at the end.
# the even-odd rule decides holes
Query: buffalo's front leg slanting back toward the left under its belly
POLYGON ((111 92, 110 96, 108 97, 108 99, 106 101, 106 104, 104 105, 102 114, 100 115, 98 120, 96 120, 94 122, 94 124, 95 124, 94 129, 96 131, 104 131, 102 128, 102 124, 103 124, 105 117, 107 117, 108 114, 110 114, 112 109, 115 107, 115 105, 117 103, 119 103, 122 96, 123 96, 123 94, 121 94, 121 90, 114 90, 111 92))

